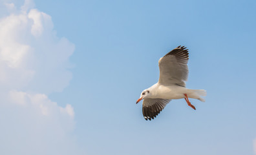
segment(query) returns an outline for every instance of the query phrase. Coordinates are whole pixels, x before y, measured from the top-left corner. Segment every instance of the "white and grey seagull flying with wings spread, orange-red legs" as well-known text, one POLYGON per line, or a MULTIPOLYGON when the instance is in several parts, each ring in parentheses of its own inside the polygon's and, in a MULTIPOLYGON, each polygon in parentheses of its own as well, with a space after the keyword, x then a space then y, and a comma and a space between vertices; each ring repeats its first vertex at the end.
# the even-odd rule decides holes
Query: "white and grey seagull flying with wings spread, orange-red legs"
POLYGON ((191 105, 189 98, 205 101, 201 96, 206 96, 206 90, 186 88, 188 55, 186 47, 178 46, 159 59, 160 76, 158 83, 143 90, 140 98, 136 101, 137 104, 144 99, 142 113, 146 120, 151 121, 151 119, 156 118, 171 99, 184 98, 187 105, 195 110, 196 108, 191 105))

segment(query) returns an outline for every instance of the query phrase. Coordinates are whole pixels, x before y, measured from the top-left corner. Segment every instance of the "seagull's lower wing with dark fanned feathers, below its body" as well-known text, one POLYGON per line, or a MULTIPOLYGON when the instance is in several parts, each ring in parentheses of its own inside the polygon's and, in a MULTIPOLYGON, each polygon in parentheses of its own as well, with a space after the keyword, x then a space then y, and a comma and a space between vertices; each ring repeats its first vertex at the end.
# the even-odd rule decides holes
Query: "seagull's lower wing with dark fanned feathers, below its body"
POLYGON ((154 119, 156 116, 164 109, 165 105, 169 103, 171 99, 144 99, 142 103, 142 113, 144 118, 151 121, 151 118, 154 119))

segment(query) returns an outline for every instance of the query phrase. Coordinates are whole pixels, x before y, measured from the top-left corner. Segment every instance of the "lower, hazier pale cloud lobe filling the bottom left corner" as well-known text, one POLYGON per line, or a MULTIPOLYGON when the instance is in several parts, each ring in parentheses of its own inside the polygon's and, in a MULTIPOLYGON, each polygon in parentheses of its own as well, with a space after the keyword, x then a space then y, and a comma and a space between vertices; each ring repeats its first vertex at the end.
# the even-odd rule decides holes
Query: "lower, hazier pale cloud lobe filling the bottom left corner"
POLYGON ((5 102, 8 104, 0 105, 0 154, 80 153, 72 134, 74 116, 70 116, 69 111, 50 101, 45 94, 16 90, 8 94, 5 102))

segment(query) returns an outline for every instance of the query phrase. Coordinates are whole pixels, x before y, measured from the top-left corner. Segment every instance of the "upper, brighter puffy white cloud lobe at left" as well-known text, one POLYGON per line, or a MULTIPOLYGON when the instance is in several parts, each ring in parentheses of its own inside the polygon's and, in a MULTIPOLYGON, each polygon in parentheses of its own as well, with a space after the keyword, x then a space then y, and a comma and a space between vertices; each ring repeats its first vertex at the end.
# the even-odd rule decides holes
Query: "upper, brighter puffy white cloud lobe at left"
POLYGON ((10 14, 0 20, 0 34, 0 85, 46 94, 67 87, 74 44, 56 36, 50 16, 36 9, 10 14))

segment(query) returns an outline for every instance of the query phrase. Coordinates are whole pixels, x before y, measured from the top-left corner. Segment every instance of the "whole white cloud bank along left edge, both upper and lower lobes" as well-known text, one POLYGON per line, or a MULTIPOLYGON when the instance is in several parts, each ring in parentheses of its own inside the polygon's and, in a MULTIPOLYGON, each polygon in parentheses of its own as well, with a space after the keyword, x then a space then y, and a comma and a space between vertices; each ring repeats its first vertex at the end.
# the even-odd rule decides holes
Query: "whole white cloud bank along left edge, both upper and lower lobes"
POLYGON ((69 85, 74 44, 32 0, 0 3, 0 154, 78 154, 74 108, 47 96, 69 85))

